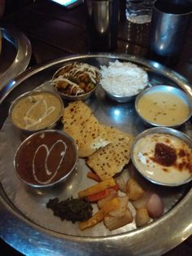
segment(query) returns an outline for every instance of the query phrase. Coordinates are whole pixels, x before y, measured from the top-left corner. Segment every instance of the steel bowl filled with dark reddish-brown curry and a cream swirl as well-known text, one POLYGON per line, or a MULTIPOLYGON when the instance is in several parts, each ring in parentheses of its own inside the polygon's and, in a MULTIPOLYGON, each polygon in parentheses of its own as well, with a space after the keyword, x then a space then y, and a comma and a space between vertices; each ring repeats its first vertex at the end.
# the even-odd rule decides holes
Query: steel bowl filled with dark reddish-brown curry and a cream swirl
POLYGON ((20 143, 14 157, 15 173, 32 188, 52 188, 76 169, 76 142, 62 130, 41 130, 20 143))

